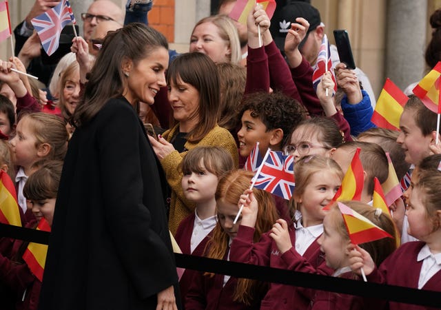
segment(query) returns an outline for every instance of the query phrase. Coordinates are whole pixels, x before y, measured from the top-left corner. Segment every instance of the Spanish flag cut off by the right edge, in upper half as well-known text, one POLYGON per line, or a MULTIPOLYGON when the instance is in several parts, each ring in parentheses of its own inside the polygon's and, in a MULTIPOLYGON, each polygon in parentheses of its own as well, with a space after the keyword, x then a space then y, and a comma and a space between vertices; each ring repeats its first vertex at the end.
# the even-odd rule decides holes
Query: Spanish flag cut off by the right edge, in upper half
POLYGON ((421 99, 422 103, 434 113, 441 114, 440 103, 440 75, 441 61, 433 67, 418 85, 413 88, 413 94, 421 99))

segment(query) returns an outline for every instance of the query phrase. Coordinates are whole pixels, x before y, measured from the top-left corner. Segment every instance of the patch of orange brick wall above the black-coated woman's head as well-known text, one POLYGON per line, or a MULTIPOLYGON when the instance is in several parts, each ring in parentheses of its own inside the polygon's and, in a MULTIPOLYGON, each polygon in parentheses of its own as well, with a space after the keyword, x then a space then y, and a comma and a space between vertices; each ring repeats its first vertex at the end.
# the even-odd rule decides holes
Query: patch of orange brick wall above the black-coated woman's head
POLYGON ((174 0, 153 0, 148 19, 149 25, 162 32, 167 41, 174 42, 174 0))

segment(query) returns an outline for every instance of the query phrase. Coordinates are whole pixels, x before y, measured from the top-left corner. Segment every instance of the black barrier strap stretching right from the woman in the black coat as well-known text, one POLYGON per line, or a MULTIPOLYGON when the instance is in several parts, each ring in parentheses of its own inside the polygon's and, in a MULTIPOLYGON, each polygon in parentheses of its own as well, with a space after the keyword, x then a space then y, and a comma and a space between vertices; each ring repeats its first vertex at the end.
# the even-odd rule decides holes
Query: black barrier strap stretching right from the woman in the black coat
MULTIPOLYGON (((175 254, 176 265, 181 268, 198 271, 220 273, 236 278, 249 278, 266 282, 276 282, 295 287, 307 287, 322 291, 334 291, 351 295, 392 300, 407 304, 420 304, 429 307, 441 307, 441 293, 398 287, 394 285, 380 285, 378 283, 363 282, 320 276, 317 274, 289 271, 256 265, 248 265, 226 260, 215 260, 200 256, 175 254)), ((405 272, 405 271, 403 271, 405 272)))

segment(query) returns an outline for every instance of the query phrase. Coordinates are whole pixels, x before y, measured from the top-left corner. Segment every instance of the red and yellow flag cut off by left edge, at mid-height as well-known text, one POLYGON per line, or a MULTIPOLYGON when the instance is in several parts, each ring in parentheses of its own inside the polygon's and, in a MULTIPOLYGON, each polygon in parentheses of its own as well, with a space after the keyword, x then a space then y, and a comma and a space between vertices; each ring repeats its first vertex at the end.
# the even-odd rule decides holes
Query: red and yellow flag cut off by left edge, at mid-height
POLYGON ((21 226, 14 183, 3 170, 0 170, 0 223, 21 226))

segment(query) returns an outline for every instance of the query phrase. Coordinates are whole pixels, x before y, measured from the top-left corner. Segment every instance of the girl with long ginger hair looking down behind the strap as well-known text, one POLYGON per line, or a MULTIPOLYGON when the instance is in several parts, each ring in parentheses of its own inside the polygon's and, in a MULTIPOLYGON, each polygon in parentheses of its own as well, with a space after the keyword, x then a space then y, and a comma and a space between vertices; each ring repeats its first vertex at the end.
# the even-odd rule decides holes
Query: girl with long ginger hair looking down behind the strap
MULTIPOLYGON (((238 213, 238 200, 249 188, 253 173, 242 169, 232 170, 220 178, 216 189, 216 213, 218 223, 209 236, 205 256, 229 260, 230 245, 236 238, 240 224, 233 224, 238 213)), ((261 189, 252 189, 252 196, 260 207, 256 212, 256 229, 252 241, 257 242, 261 234, 271 229, 277 218, 271 194, 261 189)), ((267 291, 267 284, 249 279, 238 279, 213 273, 196 273, 187 293, 185 309, 259 309, 260 300, 267 291)))

